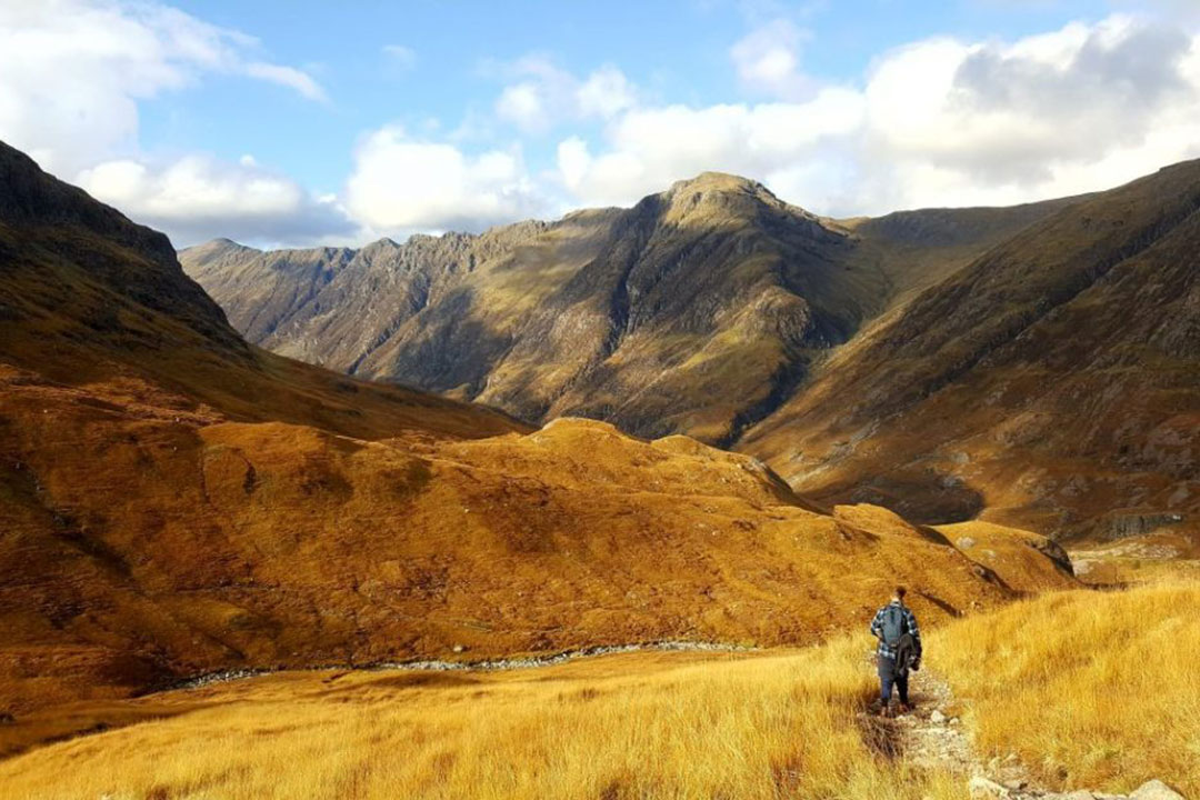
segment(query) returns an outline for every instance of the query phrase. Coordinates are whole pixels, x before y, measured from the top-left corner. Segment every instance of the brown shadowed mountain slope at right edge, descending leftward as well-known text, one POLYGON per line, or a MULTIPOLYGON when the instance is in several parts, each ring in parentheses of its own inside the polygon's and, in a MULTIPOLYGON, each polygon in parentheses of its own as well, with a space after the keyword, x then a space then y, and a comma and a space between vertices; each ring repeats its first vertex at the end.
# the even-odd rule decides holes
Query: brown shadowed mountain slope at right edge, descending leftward
POLYGON ((826 501, 1194 527, 1200 162, 1086 198, 842 348, 740 447, 826 501))

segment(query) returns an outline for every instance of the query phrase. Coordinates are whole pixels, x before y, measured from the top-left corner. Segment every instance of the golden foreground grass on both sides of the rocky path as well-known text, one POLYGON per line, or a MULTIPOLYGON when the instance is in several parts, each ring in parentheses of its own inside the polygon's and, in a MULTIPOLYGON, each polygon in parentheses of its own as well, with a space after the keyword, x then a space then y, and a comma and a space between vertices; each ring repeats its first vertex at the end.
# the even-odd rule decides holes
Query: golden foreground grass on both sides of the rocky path
MULTIPOLYGON (((924 714, 936 700, 960 720, 971 759, 1019 763, 1046 789, 1124 793, 1160 777, 1196 796, 1198 608, 1200 587, 1176 582, 1052 593, 952 622, 926 637, 928 663, 956 699, 926 692, 924 714)), ((264 675, 127 700, 144 721, 0 762, 0 793, 968 796, 964 759, 880 747, 869 650, 863 633, 514 672, 264 675)))

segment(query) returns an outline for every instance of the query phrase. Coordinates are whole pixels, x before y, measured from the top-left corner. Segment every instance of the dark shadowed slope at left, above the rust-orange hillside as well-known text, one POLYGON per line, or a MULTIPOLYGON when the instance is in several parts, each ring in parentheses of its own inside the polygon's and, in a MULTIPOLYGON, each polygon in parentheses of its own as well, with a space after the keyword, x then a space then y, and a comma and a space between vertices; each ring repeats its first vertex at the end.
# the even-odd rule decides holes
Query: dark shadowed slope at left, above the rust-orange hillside
POLYGON ((521 428, 480 407, 338 378, 250 347, 184 275, 166 236, 4 143, 0 190, 0 359, 11 368, 70 385, 104 381, 106 391, 202 415, 367 438, 521 428))

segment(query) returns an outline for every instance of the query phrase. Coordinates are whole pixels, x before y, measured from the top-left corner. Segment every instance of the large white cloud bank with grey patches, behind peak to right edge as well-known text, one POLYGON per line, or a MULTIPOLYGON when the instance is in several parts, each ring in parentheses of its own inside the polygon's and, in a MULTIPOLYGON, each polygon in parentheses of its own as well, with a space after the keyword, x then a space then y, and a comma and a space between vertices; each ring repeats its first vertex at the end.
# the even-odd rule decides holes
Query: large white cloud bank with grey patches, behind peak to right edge
POLYGON ((914 42, 882 54, 862 88, 805 86, 798 41, 772 23, 731 55, 743 82, 805 100, 635 106, 601 146, 563 139, 558 180, 581 204, 629 204, 719 169, 857 215, 1061 197, 1200 155, 1200 38, 1151 19, 914 42))

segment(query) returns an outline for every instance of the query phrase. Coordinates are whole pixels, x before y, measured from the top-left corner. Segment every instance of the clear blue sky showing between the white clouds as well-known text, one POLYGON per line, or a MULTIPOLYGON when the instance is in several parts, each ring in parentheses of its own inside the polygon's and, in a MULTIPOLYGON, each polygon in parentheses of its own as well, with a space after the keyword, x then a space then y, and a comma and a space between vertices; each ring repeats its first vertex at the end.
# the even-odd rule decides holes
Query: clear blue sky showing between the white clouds
POLYGON ((175 5, 258 37, 275 61, 307 68, 330 103, 313 106, 238 79, 206 80, 146 103, 146 144, 206 149, 226 158, 270 155, 287 173, 326 192, 336 191, 349 172, 350 146, 360 132, 392 121, 419 128, 437 120, 452 128, 464 115, 486 115, 504 85, 494 64, 528 54, 545 55, 577 74, 616 64, 664 102, 701 106, 743 96, 728 49, 756 23, 775 18, 811 31, 803 44, 809 72, 853 83, 875 55, 934 34, 1015 38, 1073 19, 1102 19, 1111 11, 1103 0, 868 0, 761 10, 695 0, 175 5), (389 47, 410 52, 410 66, 408 59, 389 55, 389 47))

